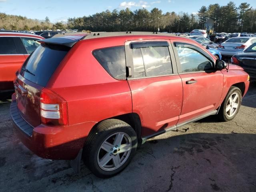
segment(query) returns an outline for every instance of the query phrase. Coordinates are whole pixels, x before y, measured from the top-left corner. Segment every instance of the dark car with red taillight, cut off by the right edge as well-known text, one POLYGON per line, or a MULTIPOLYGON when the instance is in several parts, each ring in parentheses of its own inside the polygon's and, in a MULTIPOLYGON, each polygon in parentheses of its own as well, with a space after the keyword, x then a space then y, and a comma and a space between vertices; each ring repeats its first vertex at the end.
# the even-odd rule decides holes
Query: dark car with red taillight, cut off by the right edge
POLYGON ((244 68, 250 78, 256 79, 256 43, 232 56, 231 62, 244 68))

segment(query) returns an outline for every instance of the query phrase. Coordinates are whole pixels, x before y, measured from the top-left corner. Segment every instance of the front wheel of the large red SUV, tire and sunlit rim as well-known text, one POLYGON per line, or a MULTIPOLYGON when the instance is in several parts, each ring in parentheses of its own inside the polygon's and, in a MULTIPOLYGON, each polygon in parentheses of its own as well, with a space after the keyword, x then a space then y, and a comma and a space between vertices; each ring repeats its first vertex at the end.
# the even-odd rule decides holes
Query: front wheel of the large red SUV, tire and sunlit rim
POLYGON ((238 113, 242 102, 242 92, 238 87, 231 86, 226 98, 221 104, 218 117, 222 121, 230 121, 234 119, 238 113), (232 96, 232 99, 231 99, 232 96), (235 98, 235 97, 238 98, 235 98), (231 101, 231 100, 232 101, 231 101), (229 110, 228 110, 229 109, 229 110))

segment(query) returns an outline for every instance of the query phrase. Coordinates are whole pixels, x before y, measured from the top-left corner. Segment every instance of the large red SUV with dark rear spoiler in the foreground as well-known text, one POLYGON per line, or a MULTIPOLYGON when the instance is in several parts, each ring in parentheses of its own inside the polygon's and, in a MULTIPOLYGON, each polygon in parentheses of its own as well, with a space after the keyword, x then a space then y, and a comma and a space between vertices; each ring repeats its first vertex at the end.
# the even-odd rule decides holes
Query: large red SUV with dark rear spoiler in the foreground
POLYGON ((197 42, 99 33, 41 40, 14 83, 10 114, 42 158, 81 158, 99 177, 122 171, 148 138, 210 115, 232 120, 249 76, 197 42))

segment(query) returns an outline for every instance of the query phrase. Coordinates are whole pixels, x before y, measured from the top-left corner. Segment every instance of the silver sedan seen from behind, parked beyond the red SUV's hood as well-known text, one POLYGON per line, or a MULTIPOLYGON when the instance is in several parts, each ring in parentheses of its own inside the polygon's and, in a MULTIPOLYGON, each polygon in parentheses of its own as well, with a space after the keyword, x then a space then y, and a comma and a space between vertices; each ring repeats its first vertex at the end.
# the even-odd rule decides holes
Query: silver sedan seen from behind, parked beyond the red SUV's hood
POLYGON ((245 48, 256 42, 254 37, 234 37, 226 40, 218 46, 222 56, 233 56, 242 52, 245 48))

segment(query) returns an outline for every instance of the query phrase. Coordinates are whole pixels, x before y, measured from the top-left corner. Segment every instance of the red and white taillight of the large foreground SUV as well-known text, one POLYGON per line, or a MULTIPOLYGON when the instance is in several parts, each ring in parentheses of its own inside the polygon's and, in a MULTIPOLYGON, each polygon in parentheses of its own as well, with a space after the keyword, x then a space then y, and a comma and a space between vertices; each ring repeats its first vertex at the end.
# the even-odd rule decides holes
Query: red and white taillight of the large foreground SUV
POLYGON ((52 126, 68 125, 67 102, 58 94, 46 88, 40 94, 41 123, 52 126))

